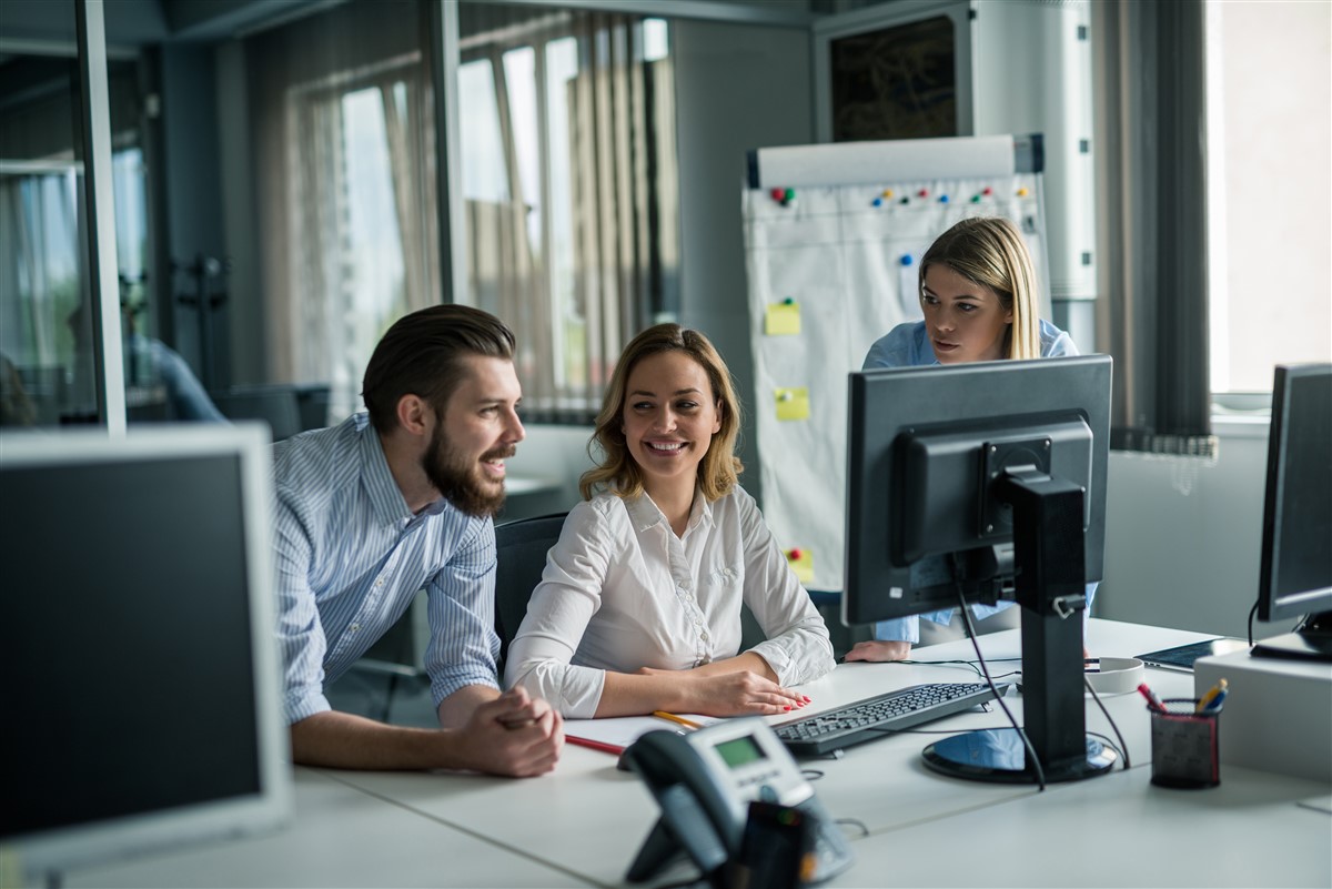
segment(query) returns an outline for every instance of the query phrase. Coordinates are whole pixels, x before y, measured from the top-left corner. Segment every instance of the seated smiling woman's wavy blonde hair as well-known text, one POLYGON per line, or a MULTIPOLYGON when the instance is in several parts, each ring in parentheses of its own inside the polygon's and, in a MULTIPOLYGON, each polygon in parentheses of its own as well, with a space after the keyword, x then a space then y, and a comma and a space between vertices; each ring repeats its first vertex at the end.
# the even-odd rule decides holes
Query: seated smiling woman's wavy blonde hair
POLYGON ((713 389, 713 402, 722 421, 722 427, 713 435, 707 454, 698 464, 698 486, 703 496, 709 502, 717 500, 735 487, 745 467, 735 456, 735 441, 741 433, 741 402, 735 394, 731 371, 713 343, 699 331, 679 325, 657 325, 625 346, 625 353, 615 365, 615 373, 610 377, 601 413, 597 415, 597 426, 591 441, 587 442, 587 452, 597 462, 597 467, 583 472, 578 480, 583 499, 591 499, 599 488, 609 488, 622 498, 635 498, 642 494, 643 472, 625 442, 625 395, 629 390, 629 375, 638 362, 663 351, 682 351, 703 367, 713 389))

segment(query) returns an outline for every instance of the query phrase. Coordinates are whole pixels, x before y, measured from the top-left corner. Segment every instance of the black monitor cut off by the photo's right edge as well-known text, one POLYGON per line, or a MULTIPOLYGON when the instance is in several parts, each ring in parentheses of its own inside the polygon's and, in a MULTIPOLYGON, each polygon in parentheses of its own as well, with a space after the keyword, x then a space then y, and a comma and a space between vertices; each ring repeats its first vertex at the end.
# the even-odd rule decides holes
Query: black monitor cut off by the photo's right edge
POLYGON ((1276 367, 1257 616, 1303 622, 1255 655, 1332 660, 1332 365, 1276 367))

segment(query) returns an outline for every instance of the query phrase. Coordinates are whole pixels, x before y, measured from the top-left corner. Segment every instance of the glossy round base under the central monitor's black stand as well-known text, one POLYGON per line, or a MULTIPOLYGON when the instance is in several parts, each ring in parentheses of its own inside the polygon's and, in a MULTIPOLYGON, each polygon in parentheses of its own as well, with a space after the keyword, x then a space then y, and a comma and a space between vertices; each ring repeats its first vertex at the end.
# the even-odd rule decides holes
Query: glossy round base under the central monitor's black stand
MULTIPOLYGON (((1036 773, 1027 768, 1027 748, 1012 728, 954 735, 930 744, 922 756, 926 767, 948 777, 992 784, 1038 783, 1036 773)), ((1115 751, 1087 736, 1086 759, 1046 764, 1046 783, 1082 781, 1106 775, 1118 761, 1115 751)))

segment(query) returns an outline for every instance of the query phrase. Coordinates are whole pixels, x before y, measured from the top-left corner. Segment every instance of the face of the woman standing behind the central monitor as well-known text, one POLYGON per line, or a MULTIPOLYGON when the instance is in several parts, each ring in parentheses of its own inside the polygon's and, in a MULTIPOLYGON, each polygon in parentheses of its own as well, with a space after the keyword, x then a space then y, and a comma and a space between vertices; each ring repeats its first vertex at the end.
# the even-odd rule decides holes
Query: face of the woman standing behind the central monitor
POLYGON ((942 264, 924 273, 920 309, 940 365, 1007 358, 1012 310, 990 287, 942 264))

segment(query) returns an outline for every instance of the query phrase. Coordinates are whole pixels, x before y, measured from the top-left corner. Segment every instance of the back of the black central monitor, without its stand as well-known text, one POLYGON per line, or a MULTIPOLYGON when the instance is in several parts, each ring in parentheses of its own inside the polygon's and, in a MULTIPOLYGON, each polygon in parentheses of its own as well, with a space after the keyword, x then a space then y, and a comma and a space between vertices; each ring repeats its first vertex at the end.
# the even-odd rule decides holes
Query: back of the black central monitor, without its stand
POLYGON ((847 624, 1014 599, 1010 470, 1083 488, 1083 574, 1102 579, 1106 355, 856 371, 847 429, 847 624))

